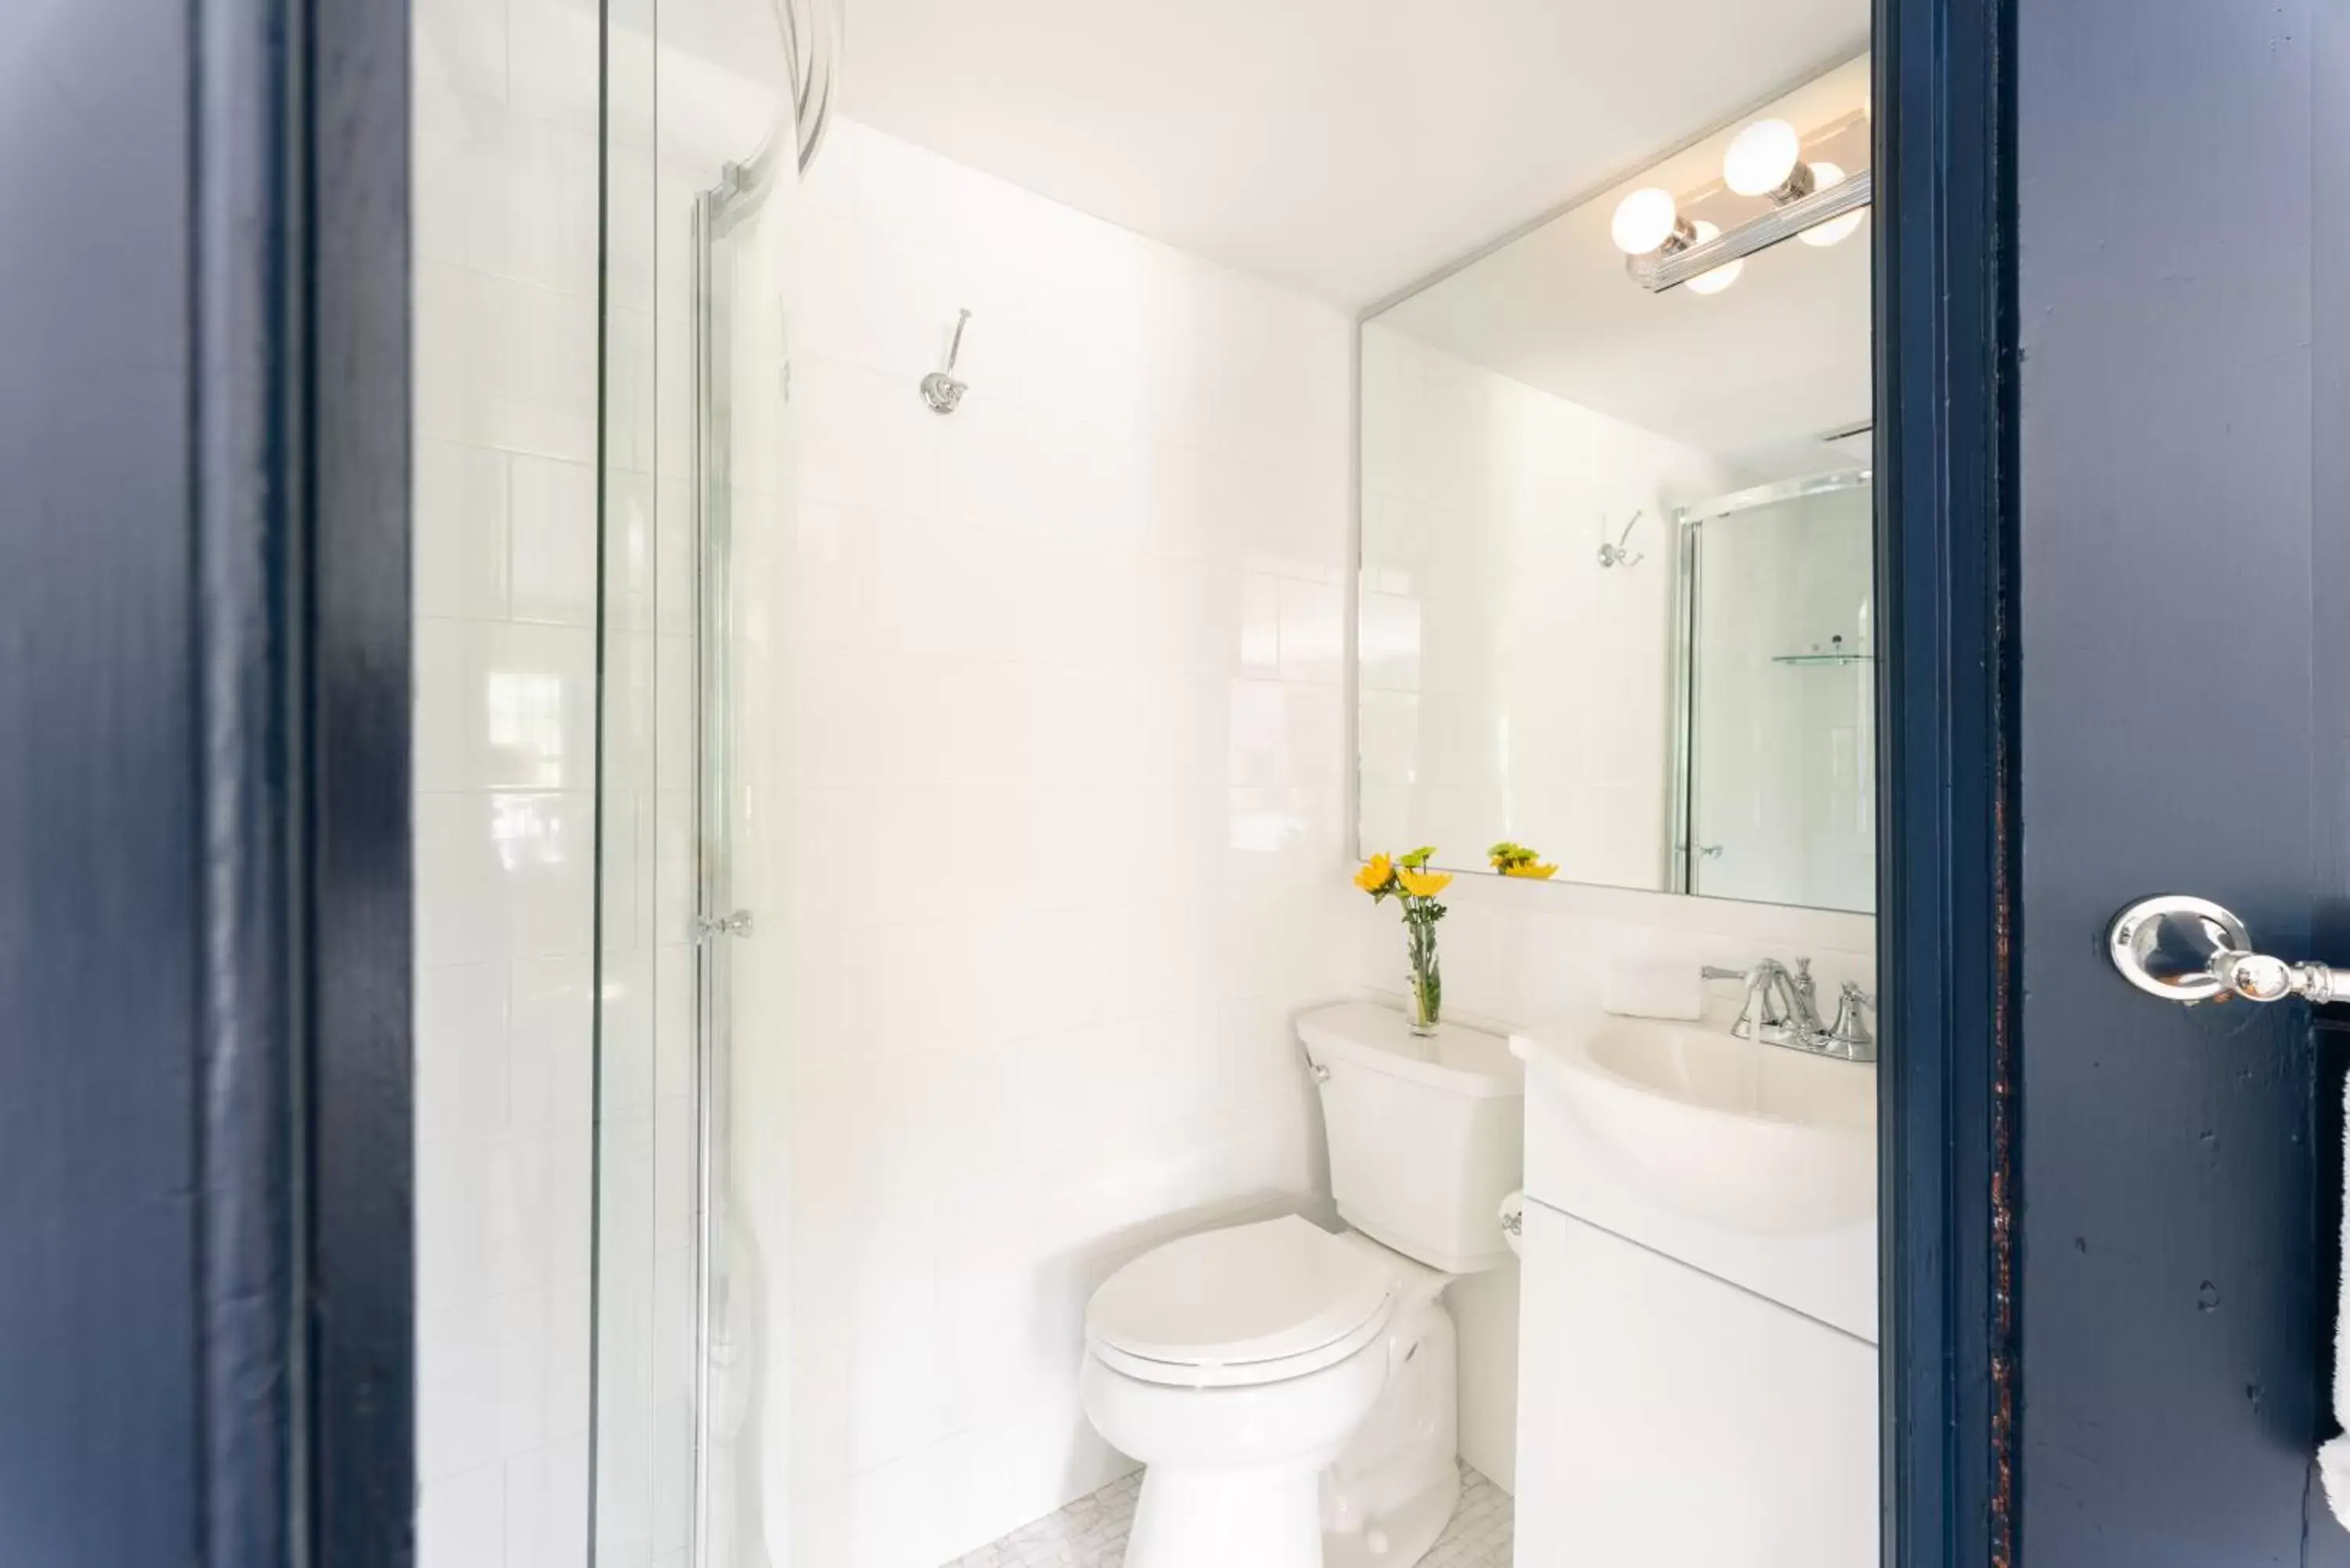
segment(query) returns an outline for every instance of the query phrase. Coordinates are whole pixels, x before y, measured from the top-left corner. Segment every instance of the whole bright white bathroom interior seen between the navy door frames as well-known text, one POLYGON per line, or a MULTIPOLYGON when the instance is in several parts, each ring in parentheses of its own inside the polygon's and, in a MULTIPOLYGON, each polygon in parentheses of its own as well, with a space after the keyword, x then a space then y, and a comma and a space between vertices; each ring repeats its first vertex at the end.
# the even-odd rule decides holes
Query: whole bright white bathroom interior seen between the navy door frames
POLYGON ((425 1568, 1875 1561, 1868 42, 418 0, 425 1568))

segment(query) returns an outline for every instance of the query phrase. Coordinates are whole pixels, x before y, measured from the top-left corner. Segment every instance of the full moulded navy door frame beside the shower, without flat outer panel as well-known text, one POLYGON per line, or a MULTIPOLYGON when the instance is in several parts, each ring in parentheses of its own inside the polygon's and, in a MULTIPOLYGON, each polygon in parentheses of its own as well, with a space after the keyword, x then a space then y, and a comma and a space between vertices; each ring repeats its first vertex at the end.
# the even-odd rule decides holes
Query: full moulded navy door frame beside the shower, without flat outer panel
POLYGON ((204 1561, 407 1568, 409 5, 193 12, 204 1561))

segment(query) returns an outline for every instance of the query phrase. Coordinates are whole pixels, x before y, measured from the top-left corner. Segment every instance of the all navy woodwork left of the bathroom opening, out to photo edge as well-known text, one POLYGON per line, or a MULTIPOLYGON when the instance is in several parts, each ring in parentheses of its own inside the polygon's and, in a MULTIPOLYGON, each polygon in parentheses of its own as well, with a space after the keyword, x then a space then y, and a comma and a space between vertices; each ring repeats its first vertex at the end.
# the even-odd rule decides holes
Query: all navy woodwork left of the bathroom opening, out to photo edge
POLYGON ((0 82, 0 1559, 407 1568, 409 5, 0 82))

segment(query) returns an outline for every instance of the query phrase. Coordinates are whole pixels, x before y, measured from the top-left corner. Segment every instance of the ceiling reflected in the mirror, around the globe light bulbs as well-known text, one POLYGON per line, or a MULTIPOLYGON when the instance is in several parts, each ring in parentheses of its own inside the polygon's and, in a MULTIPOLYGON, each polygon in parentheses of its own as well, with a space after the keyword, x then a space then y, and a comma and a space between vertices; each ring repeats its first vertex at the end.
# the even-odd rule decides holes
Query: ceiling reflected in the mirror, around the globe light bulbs
MULTIPOLYGON (((1868 165, 1868 59, 1767 106, 1805 132, 1805 155, 1868 165), (1833 132, 1833 134, 1824 134, 1833 132)), ((1741 118, 1744 122, 1744 118, 1741 118)), ((1871 411, 1868 226, 1826 249, 1784 242, 1746 259, 1720 294, 1647 294, 1607 237, 1617 197, 1657 183, 1730 228, 1767 205, 1720 190, 1737 125, 1643 169, 1379 322, 1511 381, 1708 451, 1755 480, 1849 468, 1868 442, 1821 433, 1871 411)))

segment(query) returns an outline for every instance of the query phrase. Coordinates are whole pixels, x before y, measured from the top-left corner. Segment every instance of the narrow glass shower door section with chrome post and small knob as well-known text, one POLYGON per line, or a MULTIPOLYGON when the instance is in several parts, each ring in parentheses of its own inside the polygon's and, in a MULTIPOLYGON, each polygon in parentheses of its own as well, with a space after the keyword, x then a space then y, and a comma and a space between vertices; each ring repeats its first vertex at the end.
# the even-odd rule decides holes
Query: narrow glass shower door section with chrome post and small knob
POLYGON ((700 1453, 696 1509, 705 1568, 792 1561, 790 1333, 785 1316, 787 1150, 783 1103, 787 891, 776 865, 771 785, 783 778, 790 679, 771 588, 787 569, 794 433, 783 334, 783 237, 797 143, 700 193, 696 310, 696 790, 700 1086, 696 1312, 700 1453), (768 158, 778 160, 771 165, 768 158), (768 1128, 759 1140, 743 1126, 768 1128))

